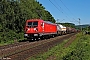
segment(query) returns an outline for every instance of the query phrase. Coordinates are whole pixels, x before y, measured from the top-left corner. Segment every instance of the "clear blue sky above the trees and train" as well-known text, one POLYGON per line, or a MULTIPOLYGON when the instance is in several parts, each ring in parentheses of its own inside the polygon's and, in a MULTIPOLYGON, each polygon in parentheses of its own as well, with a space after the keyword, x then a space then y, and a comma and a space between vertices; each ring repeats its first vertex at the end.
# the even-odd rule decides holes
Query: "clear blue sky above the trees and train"
POLYGON ((90 0, 37 0, 60 23, 90 24, 90 0))

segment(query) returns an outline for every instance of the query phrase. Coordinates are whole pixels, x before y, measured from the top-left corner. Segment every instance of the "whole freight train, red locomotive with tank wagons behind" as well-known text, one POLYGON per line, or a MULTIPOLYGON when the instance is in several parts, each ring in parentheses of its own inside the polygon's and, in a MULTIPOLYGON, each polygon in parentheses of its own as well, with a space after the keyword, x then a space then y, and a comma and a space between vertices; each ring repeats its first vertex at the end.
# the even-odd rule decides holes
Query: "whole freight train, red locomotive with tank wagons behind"
POLYGON ((25 23, 24 37, 27 39, 44 39, 74 32, 76 32, 75 28, 65 27, 42 19, 29 19, 25 23))

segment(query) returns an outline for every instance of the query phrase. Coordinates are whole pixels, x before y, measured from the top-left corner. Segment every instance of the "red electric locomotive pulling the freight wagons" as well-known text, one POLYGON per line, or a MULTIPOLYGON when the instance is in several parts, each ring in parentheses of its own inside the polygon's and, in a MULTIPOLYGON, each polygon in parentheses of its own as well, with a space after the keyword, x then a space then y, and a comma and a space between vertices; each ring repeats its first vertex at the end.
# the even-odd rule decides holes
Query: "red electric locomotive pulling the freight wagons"
POLYGON ((54 36, 57 34, 57 25, 42 19, 30 19, 25 24, 25 38, 42 38, 44 36, 54 36))

